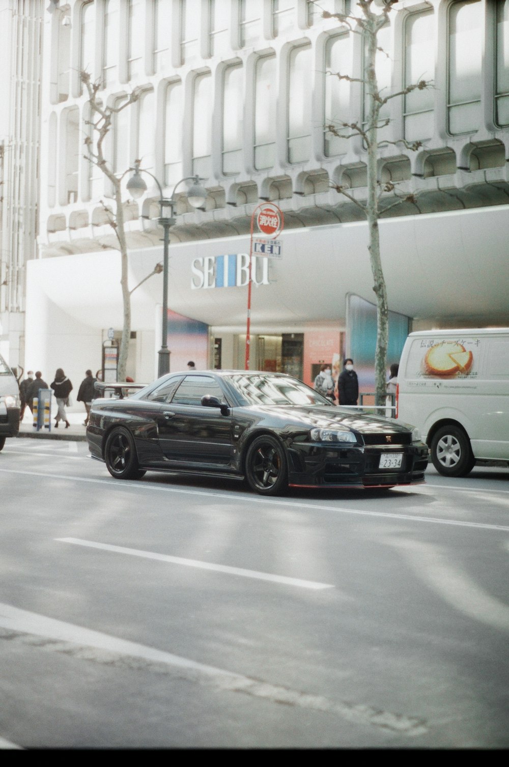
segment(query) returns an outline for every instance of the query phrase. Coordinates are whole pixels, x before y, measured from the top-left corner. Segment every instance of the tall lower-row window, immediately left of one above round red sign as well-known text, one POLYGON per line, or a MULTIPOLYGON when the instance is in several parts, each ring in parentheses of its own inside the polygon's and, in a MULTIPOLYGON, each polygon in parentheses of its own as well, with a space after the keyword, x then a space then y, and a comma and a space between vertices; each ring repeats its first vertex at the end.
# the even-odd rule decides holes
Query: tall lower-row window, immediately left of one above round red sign
POLYGON ((241 64, 225 69, 223 93, 223 173, 238 173, 242 167, 244 78, 241 64))

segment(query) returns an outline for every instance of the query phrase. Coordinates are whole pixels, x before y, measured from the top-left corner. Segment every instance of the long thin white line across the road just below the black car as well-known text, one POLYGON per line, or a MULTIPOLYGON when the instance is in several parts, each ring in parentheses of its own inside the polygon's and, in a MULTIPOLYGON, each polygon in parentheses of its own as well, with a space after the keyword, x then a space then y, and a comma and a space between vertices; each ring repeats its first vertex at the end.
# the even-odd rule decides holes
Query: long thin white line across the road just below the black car
MULTIPOLYGON (((205 498, 222 498, 229 501, 232 500, 241 500, 244 503, 261 503, 264 505, 267 505, 268 502, 277 505, 277 506, 291 506, 297 509, 310 509, 310 510, 316 510, 316 511, 325 511, 325 512, 333 512, 334 514, 340 513, 340 514, 353 514, 358 516, 366 516, 366 517, 378 517, 378 518, 386 518, 386 519, 396 519, 401 522, 402 519, 405 519, 409 522, 429 522, 434 525, 452 525, 453 527, 468 527, 468 528, 478 528, 481 530, 502 530, 503 532, 509 532, 509 526, 507 525, 487 525, 484 524, 484 522, 459 522, 457 519, 438 519, 435 517, 421 517, 421 516, 412 516, 410 514, 395 514, 391 512, 368 512, 363 511, 362 509, 346 509, 344 506, 326 506, 321 505, 317 503, 304 503, 304 502, 297 502, 297 501, 285 501, 283 499, 274 499, 274 498, 261 498, 256 495, 249 495, 246 493, 246 495, 237 495, 235 492, 231 493, 222 493, 222 492, 214 492, 213 490, 189 490, 186 488, 179 488, 179 487, 163 487, 160 485, 151 485, 149 482, 127 482, 127 481, 119 481, 114 479, 91 479, 90 477, 75 477, 75 476, 67 476, 65 474, 50 474, 49 472, 28 472, 28 471, 21 471, 19 469, 0 469, 0 472, 3 472, 5 474, 23 474, 25 476, 40 476, 44 477, 46 479, 67 479, 68 482, 90 482, 95 485, 106 485, 109 486, 110 489, 113 489, 113 486, 115 489, 118 490, 136 490, 140 491, 140 489, 143 490, 151 490, 153 492, 172 492, 172 493, 182 493, 183 495, 203 495, 205 498), (114 484, 113 484, 114 483, 114 484)), ((178 473, 178 472, 177 472, 178 473)), ((484 491, 485 492, 485 491, 484 491)))

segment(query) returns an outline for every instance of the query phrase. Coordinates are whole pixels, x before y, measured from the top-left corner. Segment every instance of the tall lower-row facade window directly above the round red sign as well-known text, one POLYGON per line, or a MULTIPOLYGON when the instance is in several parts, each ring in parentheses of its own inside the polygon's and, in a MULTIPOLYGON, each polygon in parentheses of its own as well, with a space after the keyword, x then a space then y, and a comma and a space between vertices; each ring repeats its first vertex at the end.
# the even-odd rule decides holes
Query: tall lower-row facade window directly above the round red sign
POLYGON ((271 168, 276 160, 276 57, 259 58, 255 70, 255 168, 271 168))

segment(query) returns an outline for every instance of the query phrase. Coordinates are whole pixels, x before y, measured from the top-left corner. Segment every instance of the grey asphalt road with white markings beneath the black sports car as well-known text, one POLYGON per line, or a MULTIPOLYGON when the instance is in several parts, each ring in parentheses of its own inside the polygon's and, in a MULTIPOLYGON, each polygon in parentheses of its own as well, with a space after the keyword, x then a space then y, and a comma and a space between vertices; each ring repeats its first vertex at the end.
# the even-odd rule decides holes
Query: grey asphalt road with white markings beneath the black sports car
POLYGON ((0 746, 509 746, 509 469, 291 492, 0 453, 0 746))

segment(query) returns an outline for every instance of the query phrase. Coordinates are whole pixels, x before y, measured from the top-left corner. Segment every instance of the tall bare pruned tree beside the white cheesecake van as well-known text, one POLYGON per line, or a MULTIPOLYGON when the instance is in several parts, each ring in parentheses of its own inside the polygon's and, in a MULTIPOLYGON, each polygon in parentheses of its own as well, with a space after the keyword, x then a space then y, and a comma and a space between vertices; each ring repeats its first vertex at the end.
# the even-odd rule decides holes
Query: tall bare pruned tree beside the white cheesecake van
MULTIPOLYGON (((375 382, 376 405, 379 407, 381 407, 386 400, 387 345, 389 341, 389 306, 387 303, 387 290, 383 276, 382 259, 380 257, 378 221, 381 212, 379 210, 379 199, 384 192, 391 192, 398 197, 399 195, 394 184, 383 184, 379 179, 377 160, 379 148, 387 146, 389 143, 401 143, 406 146, 407 149, 411 150, 417 150, 419 149, 419 146, 422 146, 420 142, 408 143, 404 139, 396 142, 389 142, 386 140, 380 141, 379 130, 382 130, 389 124, 389 119, 381 118, 380 112, 389 100, 402 97, 416 89, 422 90, 425 87, 429 87, 429 82, 422 80, 403 88, 401 91, 389 94, 383 92, 383 89, 380 90, 379 88, 376 76, 376 54, 378 51, 386 54, 386 51, 379 48, 378 35, 379 31, 386 25, 389 13, 392 11, 392 5, 394 5, 395 2, 397 2, 397 0, 378 2, 376 4, 377 7, 373 9, 373 0, 358 0, 357 5, 361 11, 361 14, 359 15, 329 13, 327 11, 324 11, 322 14, 323 18, 337 18, 337 21, 340 21, 350 28, 352 34, 362 35, 365 41, 363 77, 350 77, 348 74, 342 74, 341 72, 329 73, 333 77, 338 77, 340 80, 360 82, 363 85, 367 105, 366 114, 364 115, 365 122, 363 123, 362 120, 359 122, 337 121, 327 125, 327 130, 334 136, 342 138, 362 137, 364 146, 366 146, 366 202, 361 202, 356 199, 356 197, 348 191, 348 187, 346 186, 333 184, 333 188, 362 209, 368 222, 369 261, 374 281, 373 291, 376 295, 375 382)), ((401 196, 394 205, 399 205, 402 202, 402 199, 406 199, 409 202, 415 202, 415 198, 412 195, 401 196)), ((389 210, 390 207, 392 206, 385 208, 383 212, 389 210)))

